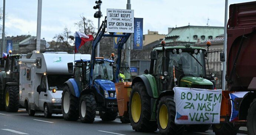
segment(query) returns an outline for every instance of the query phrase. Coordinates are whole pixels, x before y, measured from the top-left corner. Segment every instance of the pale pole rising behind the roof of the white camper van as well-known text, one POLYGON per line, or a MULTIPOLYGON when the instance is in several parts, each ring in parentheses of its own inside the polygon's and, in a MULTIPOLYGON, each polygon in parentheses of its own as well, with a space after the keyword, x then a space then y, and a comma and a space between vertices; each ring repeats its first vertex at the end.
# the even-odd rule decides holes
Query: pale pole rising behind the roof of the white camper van
POLYGON ((37 30, 36 30, 36 50, 40 52, 41 44, 41 20, 42 20, 42 0, 38 0, 37 5, 37 30))

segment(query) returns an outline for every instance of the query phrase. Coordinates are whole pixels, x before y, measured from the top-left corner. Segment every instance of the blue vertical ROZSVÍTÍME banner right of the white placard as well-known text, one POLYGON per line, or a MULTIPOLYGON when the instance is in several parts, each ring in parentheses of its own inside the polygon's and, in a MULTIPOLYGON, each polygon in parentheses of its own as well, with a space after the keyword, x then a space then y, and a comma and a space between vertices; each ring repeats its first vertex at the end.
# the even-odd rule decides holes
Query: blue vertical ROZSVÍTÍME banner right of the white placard
POLYGON ((134 18, 133 50, 142 50, 143 41, 143 18, 134 18))

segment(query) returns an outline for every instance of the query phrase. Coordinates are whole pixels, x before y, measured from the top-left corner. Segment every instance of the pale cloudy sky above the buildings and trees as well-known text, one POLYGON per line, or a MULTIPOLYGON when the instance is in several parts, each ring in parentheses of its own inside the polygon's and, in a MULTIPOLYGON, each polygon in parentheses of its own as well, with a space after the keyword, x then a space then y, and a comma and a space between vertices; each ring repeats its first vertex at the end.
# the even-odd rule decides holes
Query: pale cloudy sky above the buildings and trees
MULTIPOLYGON (((229 0, 229 4, 253 0, 229 0)), ((102 14, 106 9, 126 9, 127 0, 102 0, 102 14)), ((51 41, 55 34, 61 33, 66 26, 75 33, 75 22, 80 15, 93 18, 95 0, 43 0, 41 38, 51 41)), ((3 0, 0 1, 3 6, 3 0)), ((131 0, 134 17, 144 18, 144 34, 147 30, 167 34, 168 27, 224 26, 225 0, 131 0)), ((6 0, 6 35, 31 34, 36 36, 37 0, 6 0)), ((103 17, 101 18, 103 20, 103 17)), ((1 22, 2 24, 2 22, 1 22)))

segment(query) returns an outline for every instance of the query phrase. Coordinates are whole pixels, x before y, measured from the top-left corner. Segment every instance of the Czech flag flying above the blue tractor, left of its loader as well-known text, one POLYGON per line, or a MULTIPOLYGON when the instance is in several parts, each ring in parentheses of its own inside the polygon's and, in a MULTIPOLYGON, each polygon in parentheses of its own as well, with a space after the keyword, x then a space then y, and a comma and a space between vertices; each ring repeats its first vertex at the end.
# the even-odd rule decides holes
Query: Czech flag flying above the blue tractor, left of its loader
POLYGON ((75 53, 77 53, 78 49, 84 45, 88 41, 92 41, 93 36, 92 35, 85 35, 81 32, 76 31, 76 36, 75 36, 75 53))

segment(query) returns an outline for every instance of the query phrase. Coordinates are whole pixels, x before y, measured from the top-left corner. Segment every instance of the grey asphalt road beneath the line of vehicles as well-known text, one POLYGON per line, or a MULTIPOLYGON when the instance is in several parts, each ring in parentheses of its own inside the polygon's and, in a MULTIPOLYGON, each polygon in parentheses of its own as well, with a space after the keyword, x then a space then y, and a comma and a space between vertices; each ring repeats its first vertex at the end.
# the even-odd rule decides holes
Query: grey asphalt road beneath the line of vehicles
MULTIPOLYGON (((120 119, 115 121, 101 121, 96 116, 93 124, 84 124, 80 121, 65 121, 62 115, 53 115, 45 118, 43 113, 29 116, 24 109, 10 113, 0 111, 0 135, 158 135, 153 133, 141 133, 132 130, 130 124, 122 124, 120 119)), ((184 135, 214 135, 212 130, 204 133, 184 132, 184 135)), ((244 134, 237 134, 244 135, 244 134)))

